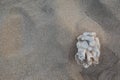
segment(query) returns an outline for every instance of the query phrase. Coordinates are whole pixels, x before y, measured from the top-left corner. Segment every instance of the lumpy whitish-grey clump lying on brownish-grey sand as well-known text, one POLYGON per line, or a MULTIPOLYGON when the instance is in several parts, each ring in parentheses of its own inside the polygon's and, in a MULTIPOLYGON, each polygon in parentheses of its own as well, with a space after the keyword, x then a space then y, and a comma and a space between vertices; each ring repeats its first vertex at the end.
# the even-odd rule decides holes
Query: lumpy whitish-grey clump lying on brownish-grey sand
POLYGON ((99 63, 100 57, 100 42, 96 37, 95 32, 84 32, 77 37, 76 46, 78 52, 75 55, 75 60, 78 64, 82 64, 84 68, 88 68, 93 64, 99 63))

